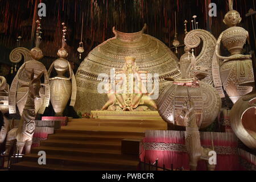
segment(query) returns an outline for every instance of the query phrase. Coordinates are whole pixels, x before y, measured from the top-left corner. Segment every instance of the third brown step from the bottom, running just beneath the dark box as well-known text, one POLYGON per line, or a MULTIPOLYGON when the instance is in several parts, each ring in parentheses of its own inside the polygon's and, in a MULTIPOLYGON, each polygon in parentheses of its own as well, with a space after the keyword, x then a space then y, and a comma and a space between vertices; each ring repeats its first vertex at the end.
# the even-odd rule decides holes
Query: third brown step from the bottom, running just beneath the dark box
MULTIPOLYGON (((129 159, 137 160, 136 155, 125 155, 121 154, 119 150, 101 150, 101 149, 91 149, 91 148, 65 148, 65 147, 47 147, 40 146, 32 148, 32 154, 38 154, 39 151, 45 151, 46 155, 67 155, 67 156, 90 156, 92 158, 109 158, 109 159, 129 159)), ((26 158, 26 156, 24 156, 26 158)))

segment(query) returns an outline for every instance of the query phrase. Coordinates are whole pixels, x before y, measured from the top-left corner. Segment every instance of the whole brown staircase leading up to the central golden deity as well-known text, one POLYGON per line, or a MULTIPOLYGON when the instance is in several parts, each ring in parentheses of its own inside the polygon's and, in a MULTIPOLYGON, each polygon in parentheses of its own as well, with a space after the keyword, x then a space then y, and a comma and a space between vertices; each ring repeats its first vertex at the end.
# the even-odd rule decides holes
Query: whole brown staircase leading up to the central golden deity
POLYGON ((69 119, 11 170, 136 170, 139 156, 122 154, 122 139, 142 139, 146 130, 167 130, 162 120, 69 119), (38 152, 46 151, 46 165, 38 152))

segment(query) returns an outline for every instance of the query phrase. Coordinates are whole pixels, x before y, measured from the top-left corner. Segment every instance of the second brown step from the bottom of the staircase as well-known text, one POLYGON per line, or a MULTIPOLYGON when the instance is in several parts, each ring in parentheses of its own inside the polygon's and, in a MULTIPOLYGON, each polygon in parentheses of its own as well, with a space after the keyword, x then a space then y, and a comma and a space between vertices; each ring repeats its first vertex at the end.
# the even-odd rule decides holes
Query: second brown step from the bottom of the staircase
MULTIPOLYGON (((38 163, 39 156, 36 154, 27 155, 26 162, 38 163)), ((127 160, 127 159, 108 159, 108 158, 92 158, 90 156, 67 156, 67 155, 47 155, 47 164, 57 164, 60 166, 81 166, 81 167, 93 167, 93 168, 109 168, 119 170, 135 170, 139 164, 139 160, 127 160)))

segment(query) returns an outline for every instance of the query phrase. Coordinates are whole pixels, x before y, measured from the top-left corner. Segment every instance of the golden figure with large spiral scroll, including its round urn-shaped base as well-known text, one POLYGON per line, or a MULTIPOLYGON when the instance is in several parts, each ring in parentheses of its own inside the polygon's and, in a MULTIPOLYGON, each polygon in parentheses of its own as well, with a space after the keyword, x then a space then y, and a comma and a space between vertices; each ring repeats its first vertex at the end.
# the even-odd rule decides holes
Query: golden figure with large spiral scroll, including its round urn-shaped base
MULTIPOLYGON (((166 79, 172 81, 172 84, 160 92, 157 101, 158 112, 168 123, 169 130, 180 130, 186 126, 184 119, 180 118, 182 106, 187 100, 187 88, 185 86, 189 87, 191 100, 195 104, 199 128, 209 126, 221 109, 220 95, 212 86, 212 57, 216 39, 209 32, 197 29, 188 32, 184 42, 186 45, 185 54, 180 59, 181 79, 166 79), (200 38, 203 39, 203 48, 200 55, 195 57, 193 52, 192 54, 189 53, 189 49, 199 46, 200 38)), ((217 60, 215 61, 217 63, 217 60)), ((221 88, 221 84, 214 86, 221 88)))

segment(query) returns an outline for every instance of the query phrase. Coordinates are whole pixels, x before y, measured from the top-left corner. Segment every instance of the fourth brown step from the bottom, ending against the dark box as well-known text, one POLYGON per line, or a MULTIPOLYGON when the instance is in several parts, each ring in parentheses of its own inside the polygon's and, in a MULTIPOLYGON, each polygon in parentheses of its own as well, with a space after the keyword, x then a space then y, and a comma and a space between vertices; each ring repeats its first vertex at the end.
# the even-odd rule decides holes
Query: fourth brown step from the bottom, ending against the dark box
POLYGON ((43 140, 40 146, 68 148, 102 148, 105 150, 121 150, 121 141, 79 141, 79 140, 43 140))

